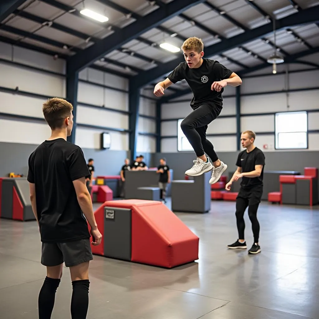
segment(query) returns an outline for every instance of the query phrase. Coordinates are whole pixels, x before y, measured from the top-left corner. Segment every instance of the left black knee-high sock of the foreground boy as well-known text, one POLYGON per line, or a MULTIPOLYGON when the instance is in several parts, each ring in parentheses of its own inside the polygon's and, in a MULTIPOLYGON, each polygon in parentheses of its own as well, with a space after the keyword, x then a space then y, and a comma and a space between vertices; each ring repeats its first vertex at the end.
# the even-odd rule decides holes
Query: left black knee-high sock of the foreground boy
POLYGON ((38 307, 39 319, 50 319, 54 300, 56 296, 56 289, 60 284, 61 279, 54 279, 46 277, 39 293, 38 307))

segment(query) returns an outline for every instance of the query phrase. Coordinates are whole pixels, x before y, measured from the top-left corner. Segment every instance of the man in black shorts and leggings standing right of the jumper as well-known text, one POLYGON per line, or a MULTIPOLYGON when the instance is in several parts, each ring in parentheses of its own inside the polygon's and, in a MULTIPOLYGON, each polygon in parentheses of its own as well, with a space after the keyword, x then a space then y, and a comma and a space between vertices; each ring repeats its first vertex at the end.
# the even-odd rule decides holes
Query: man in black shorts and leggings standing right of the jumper
POLYGON ((228 245, 230 249, 246 249, 244 237, 245 221, 244 212, 248 206, 248 216, 252 224, 254 243, 249 249, 249 254, 258 254, 259 245, 259 222, 257 209, 263 195, 263 169, 265 166, 264 153, 254 145, 256 135, 253 131, 244 131, 241 134, 241 145, 246 150, 238 154, 237 170, 231 180, 226 184, 226 190, 230 190, 233 181, 241 180, 241 188, 236 198, 236 220, 238 240, 228 245))

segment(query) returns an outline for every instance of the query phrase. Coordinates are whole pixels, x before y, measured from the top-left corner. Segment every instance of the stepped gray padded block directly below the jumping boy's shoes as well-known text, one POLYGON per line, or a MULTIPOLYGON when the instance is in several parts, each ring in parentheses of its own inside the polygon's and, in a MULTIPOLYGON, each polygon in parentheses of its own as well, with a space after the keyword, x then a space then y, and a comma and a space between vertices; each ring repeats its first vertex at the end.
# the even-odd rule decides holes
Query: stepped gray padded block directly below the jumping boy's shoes
POLYGON ((193 180, 172 181, 172 211, 205 213, 211 209, 211 172, 193 180))

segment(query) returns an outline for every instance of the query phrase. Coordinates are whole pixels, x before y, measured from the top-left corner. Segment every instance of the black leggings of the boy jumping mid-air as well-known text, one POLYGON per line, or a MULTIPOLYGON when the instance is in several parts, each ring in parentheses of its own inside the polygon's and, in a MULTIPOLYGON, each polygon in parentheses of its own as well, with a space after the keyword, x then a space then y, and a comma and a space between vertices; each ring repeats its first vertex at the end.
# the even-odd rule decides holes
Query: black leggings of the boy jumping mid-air
POLYGON ((216 118, 217 115, 212 106, 203 104, 186 116, 181 123, 181 129, 192 145, 196 156, 200 157, 206 153, 211 162, 216 162, 218 156, 214 151, 214 146, 206 139, 206 130, 208 124, 216 118))

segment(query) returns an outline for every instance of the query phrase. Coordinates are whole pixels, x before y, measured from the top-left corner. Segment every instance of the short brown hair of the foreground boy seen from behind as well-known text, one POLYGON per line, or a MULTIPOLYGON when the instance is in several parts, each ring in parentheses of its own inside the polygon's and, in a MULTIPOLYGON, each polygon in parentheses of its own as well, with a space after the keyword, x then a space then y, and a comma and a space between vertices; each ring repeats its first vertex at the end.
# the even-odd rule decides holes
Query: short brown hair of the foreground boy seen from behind
POLYGON ((44 118, 52 130, 62 128, 64 119, 71 116, 72 110, 72 104, 60 98, 48 99, 42 106, 44 118))

